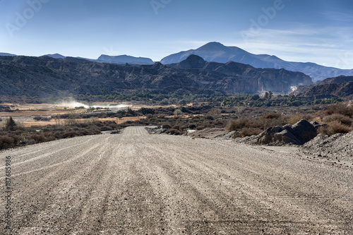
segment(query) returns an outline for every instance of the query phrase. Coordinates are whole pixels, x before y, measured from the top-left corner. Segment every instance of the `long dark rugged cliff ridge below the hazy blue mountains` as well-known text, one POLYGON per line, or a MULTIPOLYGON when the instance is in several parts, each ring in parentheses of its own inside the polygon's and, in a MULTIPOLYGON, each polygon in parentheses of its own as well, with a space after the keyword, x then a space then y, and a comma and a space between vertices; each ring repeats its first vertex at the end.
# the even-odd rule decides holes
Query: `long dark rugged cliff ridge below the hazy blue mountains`
POLYGON ((304 73, 253 68, 229 62, 206 62, 191 55, 179 64, 143 66, 100 64, 66 57, 0 56, 1 95, 100 95, 135 90, 173 93, 226 92, 253 94, 263 90, 287 93, 292 86, 311 85, 304 73))

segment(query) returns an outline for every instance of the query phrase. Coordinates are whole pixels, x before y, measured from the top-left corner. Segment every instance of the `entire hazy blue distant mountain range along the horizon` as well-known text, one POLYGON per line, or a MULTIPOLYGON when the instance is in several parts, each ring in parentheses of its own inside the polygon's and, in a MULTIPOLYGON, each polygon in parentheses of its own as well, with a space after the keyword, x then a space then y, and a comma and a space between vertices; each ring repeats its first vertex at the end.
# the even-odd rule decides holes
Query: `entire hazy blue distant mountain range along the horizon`
MULTIPOLYGON (((190 49, 186 52, 179 52, 164 57, 161 64, 177 64, 184 61, 191 54, 201 56, 205 61, 227 63, 234 61, 241 64, 249 64, 254 68, 285 68, 288 71, 302 72, 310 76, 314 82, 323 80, 325 78, 333 78, 337 76, 353 76, 353 69, 340 69, 321 66, 314 63, 301 63, 284 61, 277 56, 270 56, 268 54, 251 54, 239 47, 226 47, 219 42, 209 42, 208 44, 199 47, 198 49, 190 49)), ((16 56, 13 54, 0 53, 0 56, 16 56)), ((47 54, 55 59, 64 59, 66 56, 61 54, 47 54)), ((134 56, 108 56, 102 54, 98 59, 87 59, 83 57, 76 57, 78 59, 85 59, 88 61, 95 61, 99 63, 109 64, 131 64, 131 65, 151 65, 154 62, 152 59, 134 56)))

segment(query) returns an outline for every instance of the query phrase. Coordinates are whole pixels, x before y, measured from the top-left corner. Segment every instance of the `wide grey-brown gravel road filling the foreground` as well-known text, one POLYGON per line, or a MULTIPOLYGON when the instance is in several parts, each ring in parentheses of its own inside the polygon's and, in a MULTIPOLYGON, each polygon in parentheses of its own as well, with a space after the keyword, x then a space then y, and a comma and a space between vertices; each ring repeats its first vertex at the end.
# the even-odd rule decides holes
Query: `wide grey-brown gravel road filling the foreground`
POLYGON ((131 127, 0 159, 3 234, 353 234, 352 169, 291 153, 131 127))

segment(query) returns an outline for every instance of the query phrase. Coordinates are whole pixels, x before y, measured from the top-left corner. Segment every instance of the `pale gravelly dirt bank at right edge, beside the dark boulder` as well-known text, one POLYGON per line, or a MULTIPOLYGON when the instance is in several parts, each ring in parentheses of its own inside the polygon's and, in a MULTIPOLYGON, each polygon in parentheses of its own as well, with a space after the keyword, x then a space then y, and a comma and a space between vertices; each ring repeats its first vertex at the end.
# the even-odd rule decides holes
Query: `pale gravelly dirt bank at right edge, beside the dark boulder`
POLYGON ((353 132, 325 137, 322 134, 301 147, 301 152, 337 162, 353 164, 353 132))

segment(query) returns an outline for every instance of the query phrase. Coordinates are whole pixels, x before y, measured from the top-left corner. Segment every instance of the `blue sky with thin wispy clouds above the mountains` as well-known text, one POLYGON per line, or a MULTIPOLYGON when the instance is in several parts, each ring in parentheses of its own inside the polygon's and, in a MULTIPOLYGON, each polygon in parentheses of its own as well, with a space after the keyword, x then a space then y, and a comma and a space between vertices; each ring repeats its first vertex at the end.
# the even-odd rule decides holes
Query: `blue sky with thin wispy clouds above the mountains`
POLYGON ((353 68, 353 2, 0 0, 0 52, 160 61, 207 42, 353 68))

